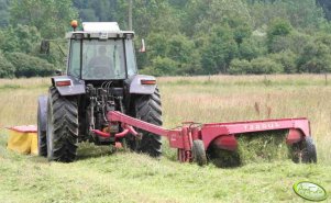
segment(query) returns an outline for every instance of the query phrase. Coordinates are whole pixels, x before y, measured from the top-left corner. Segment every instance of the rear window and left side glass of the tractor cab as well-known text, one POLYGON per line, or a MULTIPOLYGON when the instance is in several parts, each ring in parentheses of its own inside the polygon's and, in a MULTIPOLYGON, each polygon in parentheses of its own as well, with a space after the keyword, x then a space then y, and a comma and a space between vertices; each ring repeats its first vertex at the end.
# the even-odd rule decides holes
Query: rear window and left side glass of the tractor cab
POLYGON ((122 40, 84 40, 82 43, 73 40, 68 70, 71 76, 80 76, 80 54, 81 79, 125 79, 122 40))

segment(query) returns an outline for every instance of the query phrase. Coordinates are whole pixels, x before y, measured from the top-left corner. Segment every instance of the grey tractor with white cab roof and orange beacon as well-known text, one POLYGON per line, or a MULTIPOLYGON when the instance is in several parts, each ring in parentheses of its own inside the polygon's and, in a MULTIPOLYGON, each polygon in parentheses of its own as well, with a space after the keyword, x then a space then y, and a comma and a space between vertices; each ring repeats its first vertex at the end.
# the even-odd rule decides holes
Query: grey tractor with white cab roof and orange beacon
MULTIPOLYGON (((48 160, 70 162, 79 142, 115 145, 124 138, 101 137, 95 131, 118 133, 107 113, 120 111, 162 125, 161 97, 152 76, 137 75, 134 32, 121 31, 115 22, 82 23, 82 31, 67 33, 67 69, 52 78, 48 95, 38 97, 38 151, 48 160)), ((153 157, 161 155, 159 135, 141 132, 126 136, 126 145, 153 157)))

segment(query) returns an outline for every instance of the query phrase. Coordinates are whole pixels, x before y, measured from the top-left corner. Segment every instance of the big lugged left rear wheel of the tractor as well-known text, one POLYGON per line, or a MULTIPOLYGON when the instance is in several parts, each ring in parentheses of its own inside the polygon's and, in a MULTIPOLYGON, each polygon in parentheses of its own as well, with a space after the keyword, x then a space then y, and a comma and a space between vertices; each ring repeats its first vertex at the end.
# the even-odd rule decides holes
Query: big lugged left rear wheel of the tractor
POLYGON ((77 155, 78 108, 75 97, 62 97, 49 89, 47 108, 48 160, 71 162, 77 155))

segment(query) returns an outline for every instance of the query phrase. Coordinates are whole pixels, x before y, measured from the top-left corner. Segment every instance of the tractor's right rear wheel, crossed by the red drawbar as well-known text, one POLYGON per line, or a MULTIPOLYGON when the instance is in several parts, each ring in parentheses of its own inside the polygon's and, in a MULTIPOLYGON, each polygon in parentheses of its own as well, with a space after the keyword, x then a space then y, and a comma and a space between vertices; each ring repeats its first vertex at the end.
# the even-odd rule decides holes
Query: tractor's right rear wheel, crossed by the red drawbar
MULTIPOLYGON (((133 116, 154 125, 162 125, 162 109, 161 109, 161 95, 158 89, 151 95, 139 95, 134 101, 133 116)), ((129 140, 129 147, 137 153, 145 153, 152 157, 158 157, 162 154, 162 138, 159 135, 148 133, 145 131, 139 131, 142 133, 142 138, 133 138, 129 140)))

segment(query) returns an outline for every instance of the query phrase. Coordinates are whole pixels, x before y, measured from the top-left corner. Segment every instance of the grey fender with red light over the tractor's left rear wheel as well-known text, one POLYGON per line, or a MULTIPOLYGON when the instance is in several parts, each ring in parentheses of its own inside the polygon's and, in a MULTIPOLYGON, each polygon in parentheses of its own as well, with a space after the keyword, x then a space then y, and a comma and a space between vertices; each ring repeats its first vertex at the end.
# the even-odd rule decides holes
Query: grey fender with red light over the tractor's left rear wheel
POLYGON ((56 76, 52 78, 52 84, 57 89, 60 95, 85 94, 85 81, 71 76, 56 76), (58 82, 68 82, 67 86, 58 86, 58 82))

